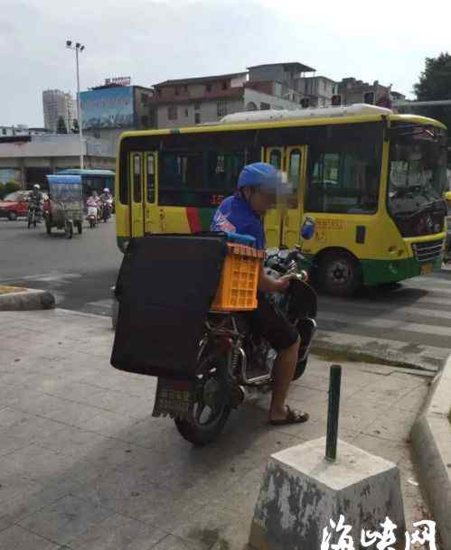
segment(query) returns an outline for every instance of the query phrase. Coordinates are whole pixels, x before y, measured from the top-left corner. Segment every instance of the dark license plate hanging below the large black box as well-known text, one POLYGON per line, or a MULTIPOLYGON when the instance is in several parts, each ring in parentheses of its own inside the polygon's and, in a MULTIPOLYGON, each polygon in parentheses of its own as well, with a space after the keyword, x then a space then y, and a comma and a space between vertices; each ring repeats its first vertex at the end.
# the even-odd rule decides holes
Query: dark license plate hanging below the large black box
POLYGON ((152 416, 186 417, 192 410, 194 396, 195 385, 193 381, 158 378, 152 416))

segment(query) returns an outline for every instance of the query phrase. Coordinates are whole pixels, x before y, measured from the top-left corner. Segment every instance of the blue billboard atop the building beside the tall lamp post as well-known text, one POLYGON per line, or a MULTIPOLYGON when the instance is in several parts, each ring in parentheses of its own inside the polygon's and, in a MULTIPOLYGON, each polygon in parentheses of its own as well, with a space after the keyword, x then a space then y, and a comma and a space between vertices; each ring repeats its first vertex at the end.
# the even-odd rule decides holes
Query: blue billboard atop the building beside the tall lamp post
POLYGON ((133 127, 133 87, 80 92, 83 130, 133 127))

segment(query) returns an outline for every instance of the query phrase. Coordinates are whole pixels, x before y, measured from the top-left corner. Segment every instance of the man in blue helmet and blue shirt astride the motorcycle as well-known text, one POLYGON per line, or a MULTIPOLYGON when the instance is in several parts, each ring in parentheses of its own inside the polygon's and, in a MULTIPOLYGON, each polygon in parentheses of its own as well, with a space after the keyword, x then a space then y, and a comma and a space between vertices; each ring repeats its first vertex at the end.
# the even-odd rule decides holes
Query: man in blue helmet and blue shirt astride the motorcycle
MULTIPOLYGON (((262 218, 276 203, 282 189, 281 173, 268 163, 248 164, 240 172, 238 190, 221 202, 216 210, 211 230, 246 234, 256 239, 258 249, 265 248, 262 218)), ((298 424, 308 420, 308 414, 286 405, 288 388, 293 379, 300 339, 296 327, 277 311, 267 293, 288 290, 291 275, 274 279, 266 275, 263 266, 258 276, 258 309, 249 312, 255 331, 277 350, 274 367, 274 388, 269 408, 269 424, 298 424)))

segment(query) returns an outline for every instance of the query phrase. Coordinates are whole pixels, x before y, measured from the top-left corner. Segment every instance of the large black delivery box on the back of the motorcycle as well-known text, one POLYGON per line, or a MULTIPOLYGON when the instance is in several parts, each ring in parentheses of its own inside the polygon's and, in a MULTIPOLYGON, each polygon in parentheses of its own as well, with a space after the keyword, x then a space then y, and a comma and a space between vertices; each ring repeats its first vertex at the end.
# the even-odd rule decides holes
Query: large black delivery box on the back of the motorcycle
POLYGON ((133 240, 117 277, 111 365, 155 377, 193 378, 226 253, 223 233, 133 240))

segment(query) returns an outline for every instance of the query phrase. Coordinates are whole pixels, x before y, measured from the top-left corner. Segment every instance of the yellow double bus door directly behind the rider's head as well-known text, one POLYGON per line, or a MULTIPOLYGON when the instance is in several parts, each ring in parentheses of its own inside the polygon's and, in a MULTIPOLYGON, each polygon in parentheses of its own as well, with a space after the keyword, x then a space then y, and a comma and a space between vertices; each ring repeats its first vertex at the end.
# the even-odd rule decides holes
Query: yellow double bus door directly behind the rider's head
POLYGON ((286 200, 277 201, 275 209, 265 216, 268 247, 299 244, 303 217, 303 189, 306 171, 306 146, 268 147, 265 161, 287 174, 290 192, 286 200))

